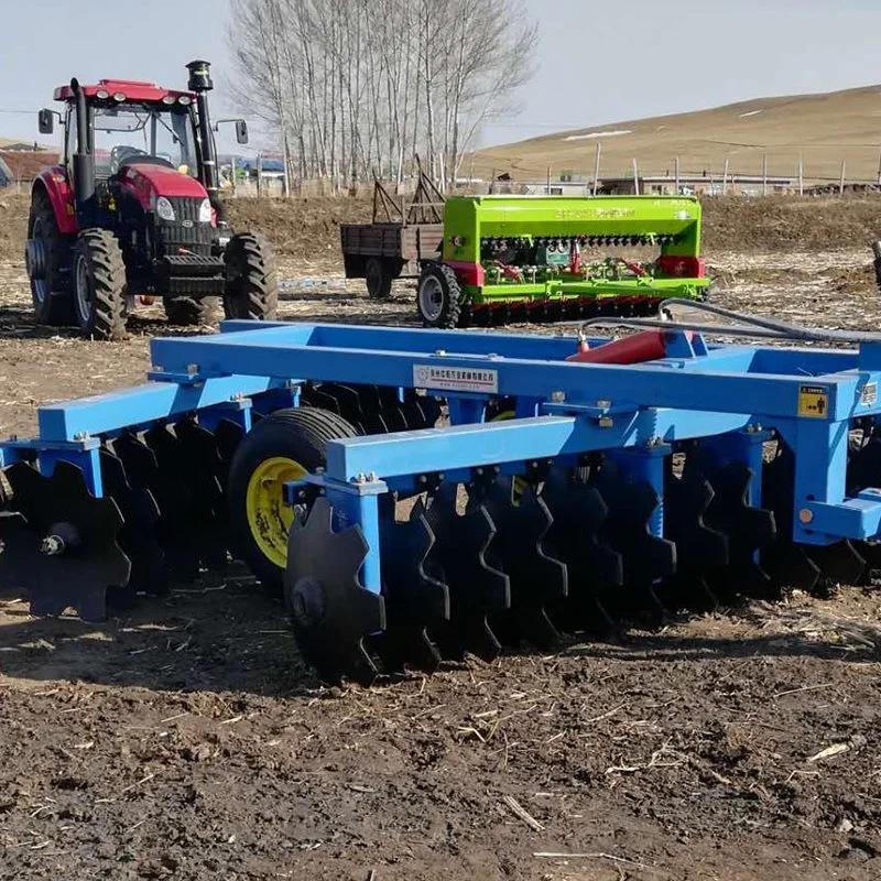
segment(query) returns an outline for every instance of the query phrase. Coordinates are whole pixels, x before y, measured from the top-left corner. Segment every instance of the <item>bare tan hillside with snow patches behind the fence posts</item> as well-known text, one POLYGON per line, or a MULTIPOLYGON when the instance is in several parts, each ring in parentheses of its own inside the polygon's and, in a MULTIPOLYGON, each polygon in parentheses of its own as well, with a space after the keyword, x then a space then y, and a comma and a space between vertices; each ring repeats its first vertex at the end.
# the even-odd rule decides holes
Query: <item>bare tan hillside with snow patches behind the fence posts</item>
MULTIPOLYGON (((622 102, 626 110, 626 102, 622 102)), ((837 180, 841 160, 850 181, 875 181, 881 152, 881 86, 757 98, 692 113, 616 122, 559 132, 480 150, 475 173, 508 173, 515 181, 572 172, 592 176, 596 144, 602 144, 600 177, 672 173, 676 156, 685 173, 707 171, 761 174, 768 154, 770 175, 795 176, 800 154, 805 176, 837 180)))

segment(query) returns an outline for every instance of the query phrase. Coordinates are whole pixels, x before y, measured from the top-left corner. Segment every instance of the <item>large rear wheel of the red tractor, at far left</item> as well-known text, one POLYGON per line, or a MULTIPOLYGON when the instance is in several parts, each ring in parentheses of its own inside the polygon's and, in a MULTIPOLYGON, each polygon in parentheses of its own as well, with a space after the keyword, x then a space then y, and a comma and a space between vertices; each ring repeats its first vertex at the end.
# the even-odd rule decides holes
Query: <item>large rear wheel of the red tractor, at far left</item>
POLYGON ((73 236, 58 230, 52 203, 43 189, 34 193, 28 219, 25 263, 37 324, 53 327, 74 324, 69 265, 73 236))

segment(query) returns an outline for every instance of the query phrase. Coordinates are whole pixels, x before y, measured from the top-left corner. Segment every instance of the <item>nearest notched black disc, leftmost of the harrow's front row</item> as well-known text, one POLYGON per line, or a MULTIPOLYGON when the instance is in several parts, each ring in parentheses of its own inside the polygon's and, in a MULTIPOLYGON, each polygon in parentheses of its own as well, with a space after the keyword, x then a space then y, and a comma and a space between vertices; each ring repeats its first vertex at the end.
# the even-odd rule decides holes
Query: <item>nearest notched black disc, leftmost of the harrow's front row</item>
POLYGON ((334 532, 324 497, 291 527, 285 605, 303 659, 326 682, 346 677, 367 685, 378 673, 365 640, 385 629, 385 606, 358 580, 367 552, 360 527, 334 532))

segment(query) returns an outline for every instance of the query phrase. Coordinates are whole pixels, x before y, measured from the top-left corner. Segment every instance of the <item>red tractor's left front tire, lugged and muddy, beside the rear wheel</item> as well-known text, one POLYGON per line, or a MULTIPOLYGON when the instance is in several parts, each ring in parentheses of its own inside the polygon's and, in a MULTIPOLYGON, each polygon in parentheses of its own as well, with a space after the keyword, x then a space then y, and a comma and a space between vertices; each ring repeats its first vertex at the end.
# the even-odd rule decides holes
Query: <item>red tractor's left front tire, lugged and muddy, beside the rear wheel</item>
POLYGON ((84 337, 126 339, 126 263, 116 236, 84 229, 74 247, 74 315, 84 337), (85 263, 87 291, 79 295, 79 264, 85 263), (84 302, 85 301, 85 302, 84 302))

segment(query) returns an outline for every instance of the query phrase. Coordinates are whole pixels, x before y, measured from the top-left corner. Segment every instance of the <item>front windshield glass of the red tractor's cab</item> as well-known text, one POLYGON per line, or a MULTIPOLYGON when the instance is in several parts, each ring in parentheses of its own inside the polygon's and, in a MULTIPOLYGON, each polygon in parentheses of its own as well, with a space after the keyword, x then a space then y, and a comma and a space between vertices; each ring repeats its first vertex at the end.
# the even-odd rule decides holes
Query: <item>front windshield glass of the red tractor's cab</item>
POLYGON ((189 111, 168 105, 95 107, 95 173, 116 174, 139 155, 154 156, 196 176, 189 111))

